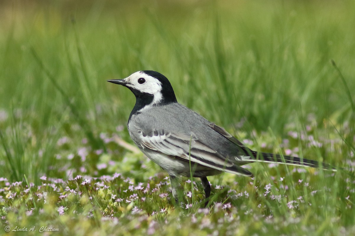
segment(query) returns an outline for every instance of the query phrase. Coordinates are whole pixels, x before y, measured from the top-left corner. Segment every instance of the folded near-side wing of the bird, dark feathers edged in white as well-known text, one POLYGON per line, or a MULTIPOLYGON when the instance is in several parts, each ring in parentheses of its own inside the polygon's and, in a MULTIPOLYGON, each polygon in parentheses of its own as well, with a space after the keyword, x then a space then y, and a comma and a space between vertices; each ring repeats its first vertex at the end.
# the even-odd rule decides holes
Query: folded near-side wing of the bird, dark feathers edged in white
POLYGON ((252 173, 235 165, 228 157, 203 144, 195 134, 178 134, 164 130, 142 132, 142 148, 158 151, 166 156, 197 163, 220 171, 251 176, 252 173))

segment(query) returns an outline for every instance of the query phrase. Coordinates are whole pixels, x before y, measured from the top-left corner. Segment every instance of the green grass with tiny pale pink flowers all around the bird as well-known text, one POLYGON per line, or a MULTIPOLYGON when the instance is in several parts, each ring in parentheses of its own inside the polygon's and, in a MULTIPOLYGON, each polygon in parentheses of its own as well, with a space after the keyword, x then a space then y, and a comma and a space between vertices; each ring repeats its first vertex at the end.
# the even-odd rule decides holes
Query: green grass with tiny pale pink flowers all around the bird
POLYGON ((353 1, 1 2, 1 234, 354 235, 354 13, 353 1), (209 211, 184 178, 176 208, 128 135, 133 94, 106 82, 138 70, 252 149, 344 170, 251 164, 253 179, 209 177, 209 211))

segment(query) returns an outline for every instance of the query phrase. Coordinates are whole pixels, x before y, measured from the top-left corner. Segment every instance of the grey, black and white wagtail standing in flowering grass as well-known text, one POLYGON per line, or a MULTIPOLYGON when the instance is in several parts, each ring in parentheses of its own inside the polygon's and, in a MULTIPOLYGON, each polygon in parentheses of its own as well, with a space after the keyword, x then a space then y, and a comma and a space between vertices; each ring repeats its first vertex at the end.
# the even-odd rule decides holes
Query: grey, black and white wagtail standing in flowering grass
POLYGON ((255 161, 320 166, 317 161, 299 157, 252 151, 225 129, 178 103, 169 80, 156 71, 137 71, 125 79, 108 82, 123 85, 136 96, 128 120, 129 134, 149 159, 168 172, 176 202, 181 201, 176 191, 178 177, 190 177, 191 169, 193 177, 201 178, 207 206, 209 175, 225 171, 251 177, 253 174, 240 166, 255 161))

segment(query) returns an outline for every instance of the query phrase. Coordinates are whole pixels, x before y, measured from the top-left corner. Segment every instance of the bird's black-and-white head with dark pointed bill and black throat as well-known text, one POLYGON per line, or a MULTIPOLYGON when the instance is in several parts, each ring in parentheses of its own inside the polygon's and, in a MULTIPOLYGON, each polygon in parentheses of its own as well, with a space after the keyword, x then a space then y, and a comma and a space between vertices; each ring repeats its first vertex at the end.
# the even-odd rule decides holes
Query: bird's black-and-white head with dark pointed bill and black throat
POLYGON ((142 105, 177 102, 169 80, 157 71, 137 71, 125 79, 108 80, 108 82, 129 88, 135 94, 137 102, 142 105))

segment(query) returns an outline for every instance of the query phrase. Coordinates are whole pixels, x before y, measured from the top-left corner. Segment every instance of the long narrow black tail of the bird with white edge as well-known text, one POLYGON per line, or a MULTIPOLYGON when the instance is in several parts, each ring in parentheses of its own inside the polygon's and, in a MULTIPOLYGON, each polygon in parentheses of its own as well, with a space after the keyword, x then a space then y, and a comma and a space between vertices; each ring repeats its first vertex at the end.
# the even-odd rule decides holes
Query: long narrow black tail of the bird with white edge
POLYGON ((308 160, 308 159, 295 157, 295 156, 281 156, 278 154, 272 154, 266 152, 254 152, 252 158, 254 159, 253 161, 283 163, 283 164, 294 165, 294 166, 309 166, 309 167, 337 171, 335 167, 327 163, 308 160))

